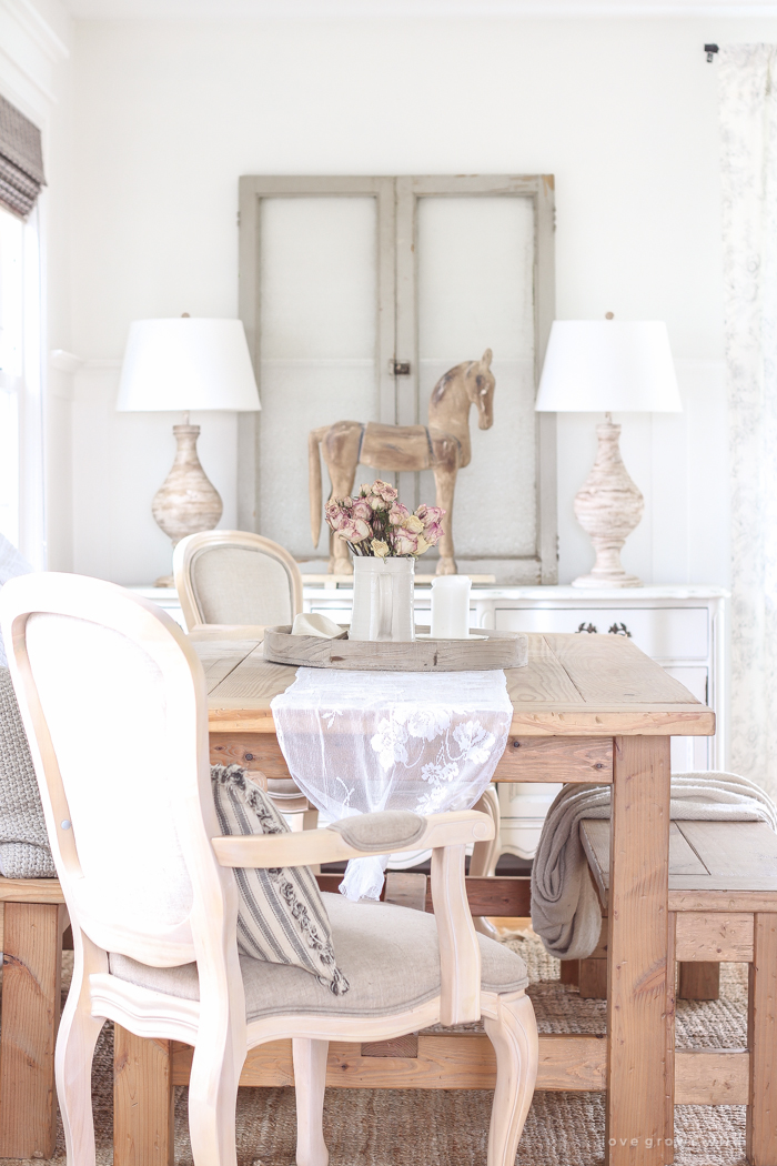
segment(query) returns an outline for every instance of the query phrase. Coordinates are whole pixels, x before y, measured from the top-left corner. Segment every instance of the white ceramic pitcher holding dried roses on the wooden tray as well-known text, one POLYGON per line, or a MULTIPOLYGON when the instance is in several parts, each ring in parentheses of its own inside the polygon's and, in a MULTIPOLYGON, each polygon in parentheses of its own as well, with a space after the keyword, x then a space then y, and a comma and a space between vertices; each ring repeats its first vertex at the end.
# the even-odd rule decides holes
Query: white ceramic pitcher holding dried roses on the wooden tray
POLYGON ((415 640, 412 588, 416 561, 353 560, 353 614, 348 639, 415 640))

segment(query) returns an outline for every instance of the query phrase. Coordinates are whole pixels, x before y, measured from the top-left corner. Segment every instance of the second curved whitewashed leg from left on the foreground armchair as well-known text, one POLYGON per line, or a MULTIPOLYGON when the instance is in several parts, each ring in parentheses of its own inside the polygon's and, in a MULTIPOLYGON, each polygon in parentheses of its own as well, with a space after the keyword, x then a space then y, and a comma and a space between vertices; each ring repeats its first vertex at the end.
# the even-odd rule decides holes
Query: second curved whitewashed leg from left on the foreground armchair
MULTIPOLYGON (((213 1027, 218 1032, 218 1026, 213 1027)), ((200 1020, 189 1077, 189 1138, 195 1166, 238 1166, 235 1112, 245 1045, 240 1056, 235 1045, 231 1031, 209 1039, 200 1020)))

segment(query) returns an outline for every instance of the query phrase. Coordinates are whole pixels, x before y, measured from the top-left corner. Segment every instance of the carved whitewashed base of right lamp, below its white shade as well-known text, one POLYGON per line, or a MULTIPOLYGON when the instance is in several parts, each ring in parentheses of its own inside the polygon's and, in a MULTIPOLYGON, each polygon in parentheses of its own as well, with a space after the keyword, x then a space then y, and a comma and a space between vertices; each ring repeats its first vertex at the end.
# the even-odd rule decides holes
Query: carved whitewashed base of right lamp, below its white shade
POLYGON ((596 461, 574 499, 574 513, 591 535, 596 562, 591 574, 573 580, 572 586, 642 586, 642 580, 623 570, 621 549, 640 524, 644 498, 623 465, 617 444, 621 427, 612 423, 609 414, 603 424, 596 426, 596 461))

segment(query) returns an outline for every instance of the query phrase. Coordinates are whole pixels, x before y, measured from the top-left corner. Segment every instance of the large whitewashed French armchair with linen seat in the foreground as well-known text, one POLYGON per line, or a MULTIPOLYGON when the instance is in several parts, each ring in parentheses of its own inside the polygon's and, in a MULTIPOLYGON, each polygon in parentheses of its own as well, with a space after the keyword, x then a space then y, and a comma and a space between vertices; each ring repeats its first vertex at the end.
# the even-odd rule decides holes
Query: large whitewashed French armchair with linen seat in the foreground
MULTIPOLYGON (((13 580, 0 620, 72 921, 75 971, 57 1038, 68 1163, 93 1166, 91 1063, 104 1020, 193 1046, 196 1166, 236 1166, 246 1053, 292 1040, 298 1166, 326 1166, 322 1114, 330 1039, 388 1040, 485 1018, 497 1081, 488 1164, 513 1166, 537 1070, 523 961, 478 936, 465 883, 473 810, 417 820, 431 847, 435 915, 325 895, 335 997, 301 968, 238 954, 231 868, 295 866, 401 850, 391 814, 338 829, 219 837, 204 672, 178 626, 120 588, 75 575, 13 580)), ((135 1098, 143 1104, 143 1098, 135 1098)))

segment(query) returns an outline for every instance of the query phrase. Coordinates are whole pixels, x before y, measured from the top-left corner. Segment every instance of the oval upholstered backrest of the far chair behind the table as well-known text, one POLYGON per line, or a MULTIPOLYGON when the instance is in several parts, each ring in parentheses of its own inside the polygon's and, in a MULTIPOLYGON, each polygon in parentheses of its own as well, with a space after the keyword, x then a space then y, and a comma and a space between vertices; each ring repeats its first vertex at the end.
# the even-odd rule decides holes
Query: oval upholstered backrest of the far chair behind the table
POLYGON ((191 631, 197 624, 290 624, 302 576, 288 550, 248 531, 205 531, 177 545, 174 574, 191 631))

